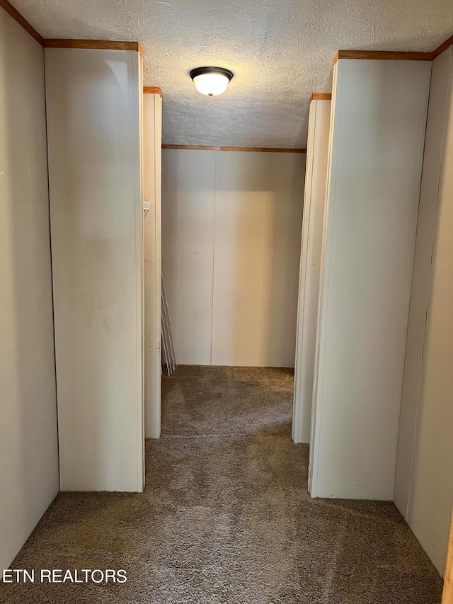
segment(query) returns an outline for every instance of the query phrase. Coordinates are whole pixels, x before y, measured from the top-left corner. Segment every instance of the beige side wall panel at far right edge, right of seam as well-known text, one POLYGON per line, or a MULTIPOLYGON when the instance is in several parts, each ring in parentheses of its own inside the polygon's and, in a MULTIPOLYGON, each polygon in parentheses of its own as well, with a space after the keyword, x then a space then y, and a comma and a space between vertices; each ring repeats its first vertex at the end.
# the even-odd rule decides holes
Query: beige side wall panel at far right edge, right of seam
POLYGON ((432 65, 395 482, 395 502, 441 574, 453 504, 452 165, 449 47, 432 65))

